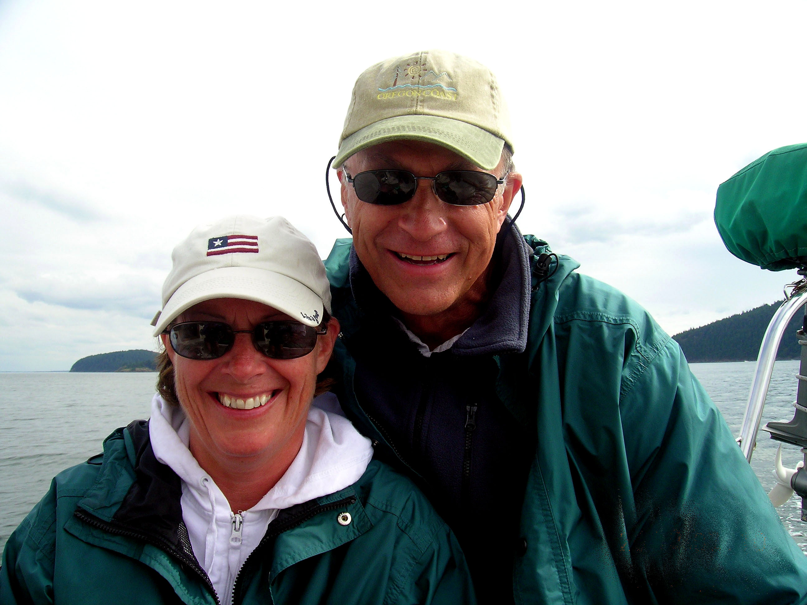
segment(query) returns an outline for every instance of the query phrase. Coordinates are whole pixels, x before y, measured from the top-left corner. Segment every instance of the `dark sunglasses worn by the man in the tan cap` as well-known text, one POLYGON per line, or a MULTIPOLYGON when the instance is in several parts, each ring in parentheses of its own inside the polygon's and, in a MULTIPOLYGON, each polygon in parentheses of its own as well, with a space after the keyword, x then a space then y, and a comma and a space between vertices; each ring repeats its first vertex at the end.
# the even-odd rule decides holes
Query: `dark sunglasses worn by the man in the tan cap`
POLYGON ((356 197, 368 204, 395 206, 412 199, 417 181, 432 181, 432 190, 443 202, 452 206, 487 204, 504 183, 507 175, 496 178, 475 170, 446 170, 436 177, 416 177, 406 170, 368 170, 351 177, 345 176, 356 190, 356 197))

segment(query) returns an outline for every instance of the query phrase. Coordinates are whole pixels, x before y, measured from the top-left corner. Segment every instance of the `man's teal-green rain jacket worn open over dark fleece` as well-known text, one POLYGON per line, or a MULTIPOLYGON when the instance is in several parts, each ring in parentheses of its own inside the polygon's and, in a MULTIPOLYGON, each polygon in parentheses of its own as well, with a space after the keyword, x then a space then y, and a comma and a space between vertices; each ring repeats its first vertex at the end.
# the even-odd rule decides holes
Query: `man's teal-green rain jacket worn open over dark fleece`
MULTIPOLYGON (((807 557, 678 344, 624 294, 575 273, 569 257, 539 280, 549 247, 525 240, 534 252, 527 348, 495 357, 500 403, 534 427, 537 444, 516 603, 807 603, 807 557)), ((364 316, 350 290, 350 244, 337 240, 325 263, 345 340, 364 316)), ((345 412, 387 444, 349 388, 355 361, 341 340, 334 358, 345 412)))

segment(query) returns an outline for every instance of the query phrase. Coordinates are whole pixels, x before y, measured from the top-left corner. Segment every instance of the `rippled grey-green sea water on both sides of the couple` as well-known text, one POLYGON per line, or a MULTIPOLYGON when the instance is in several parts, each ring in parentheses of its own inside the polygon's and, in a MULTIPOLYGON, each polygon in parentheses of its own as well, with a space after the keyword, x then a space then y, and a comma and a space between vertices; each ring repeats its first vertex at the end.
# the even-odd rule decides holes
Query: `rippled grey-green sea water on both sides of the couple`
MULTIPOLYGON (((798 361, 776 362, 763 425, 792 418, 798 367, 798 361)), ((735 436, 754 371, 755 364, 747 362, 692 364, 735 436)), ((0 549, 55 474, 100 453, 102 440, 115 428, 148 418, 156 379, 156 373, 0 373, 0 549)), ((777 442, 763 431, 757 439, 751 465, 767 491, 776 482, 777 442)), ((782 458, 793 467, 801 453, 786 446, 782 458)), ((778 510, 807 552, 800 499, 793 497, 778 510)))

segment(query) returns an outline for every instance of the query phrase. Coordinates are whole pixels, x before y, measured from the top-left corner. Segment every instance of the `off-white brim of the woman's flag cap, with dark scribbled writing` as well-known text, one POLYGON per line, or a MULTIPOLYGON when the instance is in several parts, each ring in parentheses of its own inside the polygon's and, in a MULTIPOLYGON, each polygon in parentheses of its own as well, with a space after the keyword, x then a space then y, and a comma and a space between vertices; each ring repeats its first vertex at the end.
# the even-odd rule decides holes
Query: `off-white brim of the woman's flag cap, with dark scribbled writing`
POLYGON ((308 326, 317 326, 322 321, 320 297, 297 280, 266 269, 222 267, 201 273, 179 286, 165 303, 154 336, 159 336, 183 311, 214 298, 253 300, 308 326))

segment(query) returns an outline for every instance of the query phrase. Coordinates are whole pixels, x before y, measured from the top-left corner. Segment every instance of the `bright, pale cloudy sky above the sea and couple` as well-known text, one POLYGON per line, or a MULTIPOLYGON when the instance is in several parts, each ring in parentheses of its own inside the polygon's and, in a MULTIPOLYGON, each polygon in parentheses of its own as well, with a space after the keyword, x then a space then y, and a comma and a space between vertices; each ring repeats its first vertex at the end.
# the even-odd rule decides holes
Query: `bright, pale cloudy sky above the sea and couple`
POLYGON ((495 72, 522 232, 671 334, 772 303, 795 271, 732 257, 712 213, 722 181, 807 140, 805 22, 805 0, 0 0, 0 371, 156 348, 199 223, 284 215, 327 256, 353 81, 427 48, 495 72))

